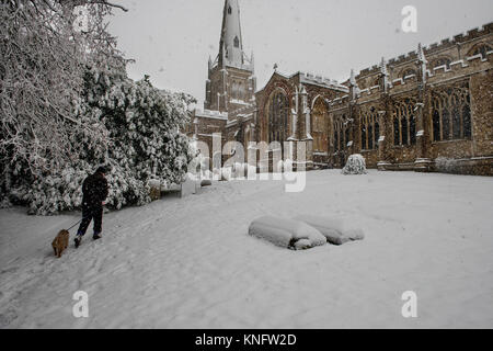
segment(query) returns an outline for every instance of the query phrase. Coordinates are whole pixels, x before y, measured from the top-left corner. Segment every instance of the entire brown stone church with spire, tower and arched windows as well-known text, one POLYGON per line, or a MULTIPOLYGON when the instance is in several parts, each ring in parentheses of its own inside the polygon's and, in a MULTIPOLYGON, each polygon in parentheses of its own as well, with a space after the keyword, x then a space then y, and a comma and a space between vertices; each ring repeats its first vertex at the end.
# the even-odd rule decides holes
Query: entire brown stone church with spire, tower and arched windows
POLYGON ((342 168, 360 154, 379 170, 493 176, 492 32, 490 23, 420 45, 344 82, 275 70, 257 90, 239 1, 226 0, 204 110, 193 112, 187 132, 209 150, 219 133, 245 150, 251 141, 303 141, 307 169, 342 168))

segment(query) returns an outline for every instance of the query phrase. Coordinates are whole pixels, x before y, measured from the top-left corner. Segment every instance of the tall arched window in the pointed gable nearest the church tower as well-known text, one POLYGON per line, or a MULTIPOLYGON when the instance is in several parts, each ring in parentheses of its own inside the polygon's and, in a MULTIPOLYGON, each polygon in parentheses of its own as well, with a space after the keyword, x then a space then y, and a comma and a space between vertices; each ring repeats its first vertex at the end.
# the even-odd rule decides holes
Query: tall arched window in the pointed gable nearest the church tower
POLYGON ((287 138, 289 102, 286 94, 276 91, 268 104, 268 143, 283 143, 287 138))

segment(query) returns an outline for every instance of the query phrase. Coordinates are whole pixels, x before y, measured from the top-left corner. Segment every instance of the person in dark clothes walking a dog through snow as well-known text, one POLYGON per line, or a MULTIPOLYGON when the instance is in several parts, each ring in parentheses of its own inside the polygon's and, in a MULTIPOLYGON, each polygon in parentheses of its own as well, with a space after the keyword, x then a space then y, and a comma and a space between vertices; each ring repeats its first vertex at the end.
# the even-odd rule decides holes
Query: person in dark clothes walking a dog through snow
POLYGON ((101 239, 103 224, 103 202, 107 197, 107 180, 104 178, 106 169, 98 168, 94 174, 85 178, 82 184, 82 222, 76 236, 76 248, 80 246, 91 220, 94 220, 94 240, 101 239))

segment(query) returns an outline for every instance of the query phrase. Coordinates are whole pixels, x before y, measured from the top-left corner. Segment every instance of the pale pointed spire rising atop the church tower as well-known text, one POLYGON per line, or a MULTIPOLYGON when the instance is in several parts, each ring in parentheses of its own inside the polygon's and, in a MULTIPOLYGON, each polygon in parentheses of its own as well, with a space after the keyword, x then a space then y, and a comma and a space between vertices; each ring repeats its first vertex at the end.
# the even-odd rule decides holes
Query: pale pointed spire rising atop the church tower
POLYGON ((241 68, 244 65, 243 38, 241 36, 240 4, 238 0, 225 0, 221 39, 219 42, 221 66, 241 68))

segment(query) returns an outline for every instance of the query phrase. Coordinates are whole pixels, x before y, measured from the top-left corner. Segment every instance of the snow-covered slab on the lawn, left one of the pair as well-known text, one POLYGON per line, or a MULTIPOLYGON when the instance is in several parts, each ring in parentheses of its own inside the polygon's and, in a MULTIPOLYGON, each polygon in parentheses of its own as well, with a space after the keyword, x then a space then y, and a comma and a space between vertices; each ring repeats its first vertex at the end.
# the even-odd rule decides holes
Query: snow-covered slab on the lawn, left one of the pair
POLYGON ((251 236, 290 249, 310 249, 326 244, 325 237, 316 228, 299 220, 265 216, 252 222, 251 236))

